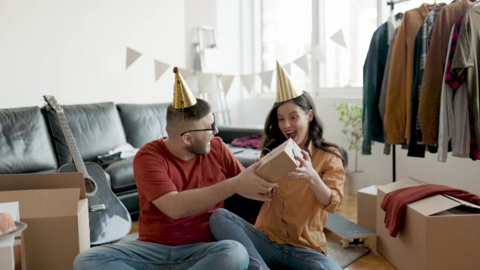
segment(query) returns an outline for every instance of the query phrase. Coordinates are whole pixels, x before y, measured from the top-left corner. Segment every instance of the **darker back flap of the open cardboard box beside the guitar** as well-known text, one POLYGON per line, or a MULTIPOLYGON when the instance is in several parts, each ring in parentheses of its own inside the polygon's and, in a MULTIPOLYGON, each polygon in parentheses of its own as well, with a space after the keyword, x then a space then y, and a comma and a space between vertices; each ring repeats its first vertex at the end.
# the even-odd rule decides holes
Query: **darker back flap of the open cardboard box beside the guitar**
POLYGON ((79 198, 86 198, 84 175, 82 173, 0 175, 0 191, 69 188, 79 188, 79 198))

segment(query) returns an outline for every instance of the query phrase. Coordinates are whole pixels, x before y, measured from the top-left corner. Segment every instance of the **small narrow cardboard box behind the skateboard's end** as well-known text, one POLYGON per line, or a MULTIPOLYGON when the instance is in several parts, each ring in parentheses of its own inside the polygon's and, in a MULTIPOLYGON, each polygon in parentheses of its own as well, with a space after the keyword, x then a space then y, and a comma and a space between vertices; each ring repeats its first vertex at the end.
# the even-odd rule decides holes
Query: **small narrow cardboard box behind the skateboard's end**
POLYGON ((361 227, 376 232, 377 186, 364 187, 356 193, 356 220, 361 227))

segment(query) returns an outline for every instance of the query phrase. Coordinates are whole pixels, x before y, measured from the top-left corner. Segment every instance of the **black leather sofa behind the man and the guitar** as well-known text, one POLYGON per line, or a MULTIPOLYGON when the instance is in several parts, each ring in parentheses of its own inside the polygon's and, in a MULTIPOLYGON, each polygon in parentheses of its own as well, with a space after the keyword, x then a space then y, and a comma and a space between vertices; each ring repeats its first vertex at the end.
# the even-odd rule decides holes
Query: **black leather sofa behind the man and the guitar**
MULTIPOLYGON (((140 148, 147 142, 166 136, 167 107, 168 103, 105 102, 65 105, 62 109, 82 158, 89 161, 127 142, 140 148)), ((220 127, 218 135, 225 142, 231 142, 234 137, 260 132, 258 129, 220 127)), ((254 158, 242 158, 241 162, 248 166, 254 162, 254 158)), ((54 173, 63 164, 71 162, 60 122, 51 109, 0 109, 0 174, 54 173)), ((139 208, 133 178, 133 158, 115 161, 105 168, 105 172, 112 191, 135 219, 139 208)), ((229 210, 239 212, 235 208, 243 208, 245 202, 249 203, 249 200, 235 196, 226 204, 229 210)))

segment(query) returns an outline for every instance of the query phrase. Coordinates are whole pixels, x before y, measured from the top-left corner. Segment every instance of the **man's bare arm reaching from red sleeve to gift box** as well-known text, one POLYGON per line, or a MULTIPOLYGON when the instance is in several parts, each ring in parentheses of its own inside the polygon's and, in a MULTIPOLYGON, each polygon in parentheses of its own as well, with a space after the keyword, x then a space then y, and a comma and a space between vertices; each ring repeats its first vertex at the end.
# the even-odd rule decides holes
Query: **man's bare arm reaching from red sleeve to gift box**
POLYGON ((260 166, 260 162, 254 163, 239 175, 210 187, 168 192, 156 198, 152 203, 168 217, 180 219, 206 210, 235 193, 262 194, 268 192, 276 187, 276 184, 255 175, 255 169, 258 166, 260 166))

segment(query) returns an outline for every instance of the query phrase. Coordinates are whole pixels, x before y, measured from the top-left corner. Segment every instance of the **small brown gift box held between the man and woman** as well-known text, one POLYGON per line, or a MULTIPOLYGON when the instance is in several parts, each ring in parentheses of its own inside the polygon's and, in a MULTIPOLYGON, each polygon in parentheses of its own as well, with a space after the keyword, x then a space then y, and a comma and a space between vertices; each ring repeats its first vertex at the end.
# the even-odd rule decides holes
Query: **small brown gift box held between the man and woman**
POLYGON ((289 138, 262 157, 262 164, 255 173, 269 182, 279 182, 287 173, 298 167, 299 162, 295 156, 302 156, 302 150, 289 138))

